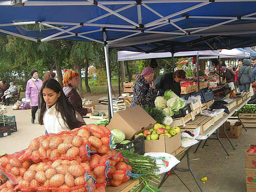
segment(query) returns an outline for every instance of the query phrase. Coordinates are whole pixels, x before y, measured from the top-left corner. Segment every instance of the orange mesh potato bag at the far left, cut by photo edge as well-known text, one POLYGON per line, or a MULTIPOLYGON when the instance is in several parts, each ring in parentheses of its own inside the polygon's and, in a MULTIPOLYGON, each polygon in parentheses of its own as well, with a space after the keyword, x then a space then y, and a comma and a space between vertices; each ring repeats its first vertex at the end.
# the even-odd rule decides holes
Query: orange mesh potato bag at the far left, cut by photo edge
POLYGON ((18 158, 17 155, 19 154, 6 154, 0 158, 0 170, 12 184, 17 184, 22 179, 24 172, 34 164, 27 158, 18 158))

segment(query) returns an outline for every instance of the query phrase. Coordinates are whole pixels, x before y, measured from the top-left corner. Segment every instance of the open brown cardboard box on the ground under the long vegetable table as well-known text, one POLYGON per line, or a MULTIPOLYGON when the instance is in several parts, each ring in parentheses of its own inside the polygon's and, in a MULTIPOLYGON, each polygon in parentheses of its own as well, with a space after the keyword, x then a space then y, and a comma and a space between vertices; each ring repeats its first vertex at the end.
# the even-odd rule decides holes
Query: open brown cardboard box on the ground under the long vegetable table
MULTIPOLYGON (((234 125, 230 125, 230 122, 226 121, 222 126, 219 127, 219 133, 224 133, 224 125, 226 134, 229 138, 239 138, 242 134, 242 123, 235 122, 234 125)), ((226 135, 219 135, 219 137, 226 137, 226 135)))

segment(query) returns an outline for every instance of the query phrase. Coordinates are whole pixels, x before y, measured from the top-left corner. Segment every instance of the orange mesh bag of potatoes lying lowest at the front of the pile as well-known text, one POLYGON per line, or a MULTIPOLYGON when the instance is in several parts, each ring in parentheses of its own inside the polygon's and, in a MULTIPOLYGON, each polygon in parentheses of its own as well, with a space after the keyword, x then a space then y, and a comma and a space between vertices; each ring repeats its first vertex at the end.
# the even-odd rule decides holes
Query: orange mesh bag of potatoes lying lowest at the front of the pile
POLYGON ((106 177, 107 162, 95 166, 90 166, 89 160, 79 162, 57 159, 53 162, 37 163, 29 167, 15 189, 52 190, 52 192, 92 191, 96 183, 95 178, 106 177))

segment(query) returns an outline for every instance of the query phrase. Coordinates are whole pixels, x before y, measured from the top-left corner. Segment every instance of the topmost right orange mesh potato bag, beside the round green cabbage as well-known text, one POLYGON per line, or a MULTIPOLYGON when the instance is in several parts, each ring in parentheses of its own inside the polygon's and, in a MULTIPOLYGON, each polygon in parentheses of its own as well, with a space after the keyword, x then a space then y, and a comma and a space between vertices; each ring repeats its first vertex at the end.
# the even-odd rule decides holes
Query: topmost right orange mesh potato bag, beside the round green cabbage
POLYGON ((83 125, 73 129, 73 134, 88 138, 90 150, 97 154, 105 154, 112 149, 111 132, 102 125, 83 125))

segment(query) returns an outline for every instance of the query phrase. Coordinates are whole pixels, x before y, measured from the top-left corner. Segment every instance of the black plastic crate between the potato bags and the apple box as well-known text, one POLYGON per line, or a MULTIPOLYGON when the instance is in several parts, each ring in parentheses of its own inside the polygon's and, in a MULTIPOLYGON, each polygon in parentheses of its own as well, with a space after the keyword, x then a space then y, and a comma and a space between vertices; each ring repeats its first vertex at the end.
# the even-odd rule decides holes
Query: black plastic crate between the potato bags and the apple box
POLYGON ((129 143, 126 144, 118 144, 116 149, 125 149, 139 155, 144 155, 144 139, 145 137, 140 135, 134 140, 129 140, 129 143))

